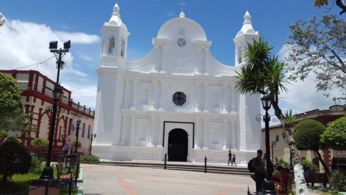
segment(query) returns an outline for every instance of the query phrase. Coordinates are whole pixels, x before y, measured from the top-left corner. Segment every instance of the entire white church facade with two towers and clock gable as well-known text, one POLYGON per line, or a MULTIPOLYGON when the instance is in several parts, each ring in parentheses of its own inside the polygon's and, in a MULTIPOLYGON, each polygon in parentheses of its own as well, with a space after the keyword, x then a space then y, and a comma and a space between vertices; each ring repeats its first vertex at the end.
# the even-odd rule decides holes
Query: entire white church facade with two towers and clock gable
POLYGON ((101 29, 93 150, 168 154, 172 161, 253 158, 261 147, 260 96, 240 94, 235 71, 247 42, 260 35, 246 11, 235 42, 235 66, 211 54, 203 28, 180 17, 164 23, 153 49, 127 61, 129 32, 119 6, 101 29))

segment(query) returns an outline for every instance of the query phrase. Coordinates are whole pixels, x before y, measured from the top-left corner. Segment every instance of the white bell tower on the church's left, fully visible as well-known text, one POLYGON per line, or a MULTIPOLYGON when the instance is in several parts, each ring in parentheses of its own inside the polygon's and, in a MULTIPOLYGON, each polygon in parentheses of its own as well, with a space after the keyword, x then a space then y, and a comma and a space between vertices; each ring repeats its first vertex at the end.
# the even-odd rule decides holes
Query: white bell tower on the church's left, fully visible
POLYGON ((100 30, 102 35, 100 66, 114 65, 125 69, 127 37, 130 33, 120 19, 119 10, 118 3, 116 3, 110 20, 108 23, 104 23, 100 30))

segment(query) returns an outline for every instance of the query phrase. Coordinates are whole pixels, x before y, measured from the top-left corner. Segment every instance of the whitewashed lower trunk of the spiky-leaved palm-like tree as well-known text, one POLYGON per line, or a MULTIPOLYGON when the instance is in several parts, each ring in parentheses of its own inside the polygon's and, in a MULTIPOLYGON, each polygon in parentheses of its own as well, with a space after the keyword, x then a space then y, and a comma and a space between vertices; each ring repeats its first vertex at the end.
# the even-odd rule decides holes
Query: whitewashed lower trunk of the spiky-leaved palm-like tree
POLYGON ((288 140, 288 145, 290 147, 290 151, 292 153, 292 161, 293 161, 293 170, 294 170, 294 182, 295 182, 295 194, 307 195, 308 188, 306 185, 306 181, 304 178, 303 167, 300 162, 300 156, 298 154, 297 146, 295 146, 295 142, 291 132, 286 131, 286 138, 288 140))

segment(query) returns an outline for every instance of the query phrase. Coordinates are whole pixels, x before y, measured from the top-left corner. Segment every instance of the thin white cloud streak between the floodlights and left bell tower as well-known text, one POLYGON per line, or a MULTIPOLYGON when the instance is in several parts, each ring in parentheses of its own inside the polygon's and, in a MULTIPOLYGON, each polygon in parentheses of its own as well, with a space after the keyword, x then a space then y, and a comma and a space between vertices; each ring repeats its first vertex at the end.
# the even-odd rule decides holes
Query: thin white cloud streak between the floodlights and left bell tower
POLYGON ((63 41, 71 40, 71 43, 75 44, 91 44, 100 41, 100 37, 97 35, 88 35, 85 33, 70 33, 65 31, 54 31, 56 36, 58 36, 63 41))

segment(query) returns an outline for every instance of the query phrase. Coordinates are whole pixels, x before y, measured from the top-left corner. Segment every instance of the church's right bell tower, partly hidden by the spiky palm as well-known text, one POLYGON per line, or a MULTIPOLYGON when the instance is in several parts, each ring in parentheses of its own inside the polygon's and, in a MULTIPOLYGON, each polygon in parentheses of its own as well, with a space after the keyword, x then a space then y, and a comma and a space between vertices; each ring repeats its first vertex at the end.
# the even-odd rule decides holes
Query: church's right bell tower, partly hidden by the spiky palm
POLYGON ((244 15, 244 23, 242 29, 239 30, 236 37, 233 39, 235 43, 235 66, 241 65, 244 62, 244 48, 247 47, 247 43, 252 44, 253 39, 258 41, 260 34, 255 31, 251 23, 251 15, 246 11, 244 15))

